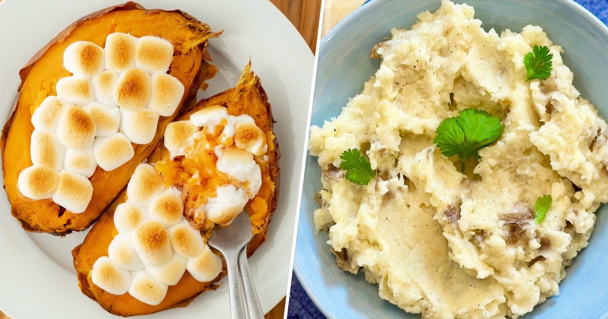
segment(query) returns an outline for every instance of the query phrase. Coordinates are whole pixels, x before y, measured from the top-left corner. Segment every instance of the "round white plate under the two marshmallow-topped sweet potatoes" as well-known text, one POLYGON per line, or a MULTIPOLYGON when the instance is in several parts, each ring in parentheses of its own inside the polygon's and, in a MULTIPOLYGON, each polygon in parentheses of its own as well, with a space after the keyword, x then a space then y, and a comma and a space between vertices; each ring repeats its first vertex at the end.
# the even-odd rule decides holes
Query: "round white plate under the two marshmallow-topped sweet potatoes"
MULTIPOLYGON (((249 259, 264 312, 285 297, 294 234, 297 190, 313 78, 313 53, 291 22, 263 0, 138 1, 146 9, 180 9, 214 31, 210 53, 219 73, 210 80, 209 97, 233 87, 249 57, 260 76, 275 120, 281 149, 280 199, 268 239, 249 259)), ((116 2, 116 4, 119 2, 116 2)), ((114 3, 108 1, 0 2, 0 123, 4 125, 19 86, 18 72, 30 57, 78 18, 114 3)), ((10 154, 7 154, 10 156, 10 154)), ((0 310, 19 318, 114 317, 83 295, 72 266, 71 250, 86 232, 66 238, 22 230, 0 196, 0 310)), ((226 281, 224 278, 223 281, 226 281)), ((150 318, 230 317, 226 284, 205 292, 190 306, 150 318)))

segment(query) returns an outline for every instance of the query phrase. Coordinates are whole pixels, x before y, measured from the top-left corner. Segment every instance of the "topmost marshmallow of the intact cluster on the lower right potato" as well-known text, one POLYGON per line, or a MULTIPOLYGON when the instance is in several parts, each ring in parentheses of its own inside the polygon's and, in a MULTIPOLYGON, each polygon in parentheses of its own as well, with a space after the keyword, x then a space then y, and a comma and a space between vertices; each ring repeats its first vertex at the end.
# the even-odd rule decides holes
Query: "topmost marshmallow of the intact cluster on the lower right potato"
POLYGON ((142 207, 149 207, 150 202, 165 189, 162 175, 154 170, 154 166, 146 163, 137 165, 129 185, 126 187, 126 196, 130 201, 142 207))

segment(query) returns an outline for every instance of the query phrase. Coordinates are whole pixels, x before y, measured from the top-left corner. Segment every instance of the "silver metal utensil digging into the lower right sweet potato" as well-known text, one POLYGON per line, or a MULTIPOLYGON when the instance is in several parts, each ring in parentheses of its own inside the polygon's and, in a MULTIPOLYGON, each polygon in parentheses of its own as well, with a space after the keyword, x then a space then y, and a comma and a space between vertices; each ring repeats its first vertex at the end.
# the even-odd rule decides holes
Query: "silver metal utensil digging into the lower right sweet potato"
POLYGON ((249 214, 243 211, 229 227, 213 228, 213 235, 207 241, 207 244, 219 250, 226 259, 232 319, 264 318, 247 263, 246 247, 252 237, 249 214))

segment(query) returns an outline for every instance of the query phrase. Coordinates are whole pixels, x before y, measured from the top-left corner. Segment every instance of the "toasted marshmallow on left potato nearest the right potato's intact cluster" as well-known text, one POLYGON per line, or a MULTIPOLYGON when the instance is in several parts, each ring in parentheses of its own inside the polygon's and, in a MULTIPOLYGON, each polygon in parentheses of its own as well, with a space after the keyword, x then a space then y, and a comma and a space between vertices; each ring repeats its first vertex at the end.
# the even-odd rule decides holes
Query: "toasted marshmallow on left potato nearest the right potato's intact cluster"
POLYGON ((112 171, 133 159, 135 151, 125 134, 97 137, 94 146, 95 160, 104 171, 112 171))

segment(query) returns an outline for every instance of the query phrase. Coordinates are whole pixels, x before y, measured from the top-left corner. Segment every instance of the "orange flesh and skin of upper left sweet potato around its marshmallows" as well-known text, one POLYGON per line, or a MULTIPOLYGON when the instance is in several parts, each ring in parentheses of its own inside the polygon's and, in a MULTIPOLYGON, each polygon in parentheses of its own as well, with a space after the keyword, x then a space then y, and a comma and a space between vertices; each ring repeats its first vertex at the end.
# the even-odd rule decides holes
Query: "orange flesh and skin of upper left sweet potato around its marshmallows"
POLYGON ((204 81, 212 78, 216 69, 209 64, 207 40, 220 33, 179 10, 145 10, 135 2, 109 7, 85 16, 63 30, 21 69, 21 86, 15 110, 2 129, 0 149, 4 188, 12 205, 12 214, 29 232, 66 235, 88 228, 103 213, 125 187, 137 164, 146 159, 162 139, 168 123, 187 111, 204 81), (18 190, 19 173, 32 165, 30 136, 33 111, 48 95, 57 95, 55 84, 71 75, 63 69, 63 52, 75 41, 90 41, 105 46, 109 33, 123 32, 141 37, 159 36, 173 43, 174 55, 169 74, 185 86, 185 94, 178 110, 170 117, 161 117, 156 137, 147 145, 135 145, 135 156, 113 171, 97 167, 91 177, 93 195, 86 211, 74 214, 55 204, 51 199, 32 201, 18 190))

